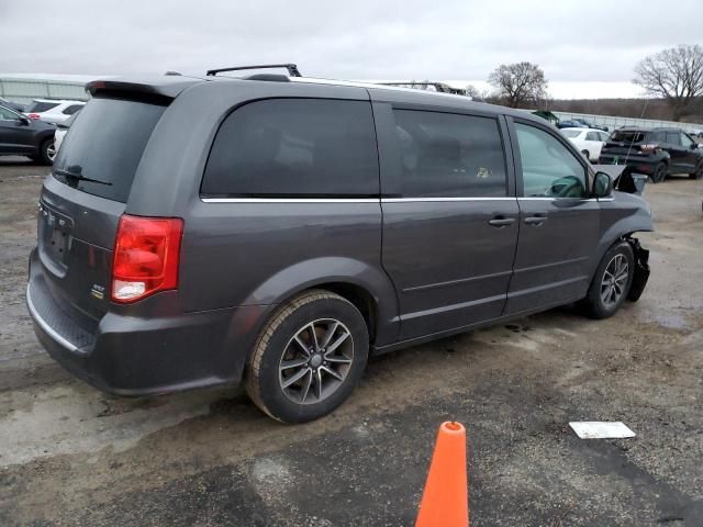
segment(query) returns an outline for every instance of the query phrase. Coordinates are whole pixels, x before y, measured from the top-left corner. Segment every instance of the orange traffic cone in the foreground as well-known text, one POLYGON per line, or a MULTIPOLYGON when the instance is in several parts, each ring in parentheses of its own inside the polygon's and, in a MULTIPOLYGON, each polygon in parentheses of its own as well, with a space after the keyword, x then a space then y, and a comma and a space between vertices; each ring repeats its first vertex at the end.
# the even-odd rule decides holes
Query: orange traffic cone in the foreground
POLYGON ((468 489, 466 429, 460 423, 443 423, 415 527, 467 527, 468 489))

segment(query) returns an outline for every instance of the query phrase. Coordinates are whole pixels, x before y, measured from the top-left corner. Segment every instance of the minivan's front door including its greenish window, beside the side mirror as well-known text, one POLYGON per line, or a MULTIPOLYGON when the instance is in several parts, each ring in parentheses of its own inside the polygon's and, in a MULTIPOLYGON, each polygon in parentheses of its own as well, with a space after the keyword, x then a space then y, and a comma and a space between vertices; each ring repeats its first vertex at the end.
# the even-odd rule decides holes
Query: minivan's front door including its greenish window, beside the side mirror
POLYGON ((518 179, 520 239, 505 314, 583 298, 600 239, 600 205, 588 199, 582 157, 547 126, 511 126, 518 179))

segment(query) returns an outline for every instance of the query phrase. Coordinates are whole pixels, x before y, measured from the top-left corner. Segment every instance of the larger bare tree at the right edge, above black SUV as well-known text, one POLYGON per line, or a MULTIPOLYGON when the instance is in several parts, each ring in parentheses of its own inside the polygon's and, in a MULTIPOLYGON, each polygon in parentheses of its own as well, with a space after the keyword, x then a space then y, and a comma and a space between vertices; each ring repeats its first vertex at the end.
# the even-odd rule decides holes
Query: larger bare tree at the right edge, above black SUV
POLYGON ((685 115, 691 102, 703 97, 703 47, 679 45, 646 57, 633 80, 651 96, 667 100, 673 120, 685 115))

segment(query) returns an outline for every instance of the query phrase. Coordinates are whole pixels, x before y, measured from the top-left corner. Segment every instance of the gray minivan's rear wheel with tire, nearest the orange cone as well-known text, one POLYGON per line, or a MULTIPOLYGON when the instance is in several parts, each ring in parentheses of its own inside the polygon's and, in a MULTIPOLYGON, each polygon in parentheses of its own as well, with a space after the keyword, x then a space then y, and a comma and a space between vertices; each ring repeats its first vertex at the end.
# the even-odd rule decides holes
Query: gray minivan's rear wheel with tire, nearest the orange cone
POLYGON ((354 304, 328 291, 306 291, 282 306, 261 330, 245 388, 275 419, 316 419, 350 395, 368 351, 368 328, 354 304))

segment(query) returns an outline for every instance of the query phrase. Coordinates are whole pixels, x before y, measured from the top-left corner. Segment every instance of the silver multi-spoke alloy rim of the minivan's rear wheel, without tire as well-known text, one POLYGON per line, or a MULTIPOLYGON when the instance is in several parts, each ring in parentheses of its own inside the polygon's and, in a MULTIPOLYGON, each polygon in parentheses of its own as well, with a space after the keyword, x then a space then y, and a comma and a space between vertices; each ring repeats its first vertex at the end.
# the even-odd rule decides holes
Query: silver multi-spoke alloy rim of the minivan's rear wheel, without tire
POLYGON ((315 404, 344 383, 354 361, 354 338, 342 322, 322 318, 288 341, 278 372, 280 388, 298 404, 315 404))

